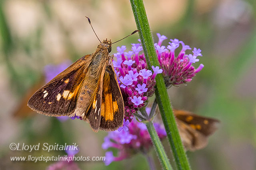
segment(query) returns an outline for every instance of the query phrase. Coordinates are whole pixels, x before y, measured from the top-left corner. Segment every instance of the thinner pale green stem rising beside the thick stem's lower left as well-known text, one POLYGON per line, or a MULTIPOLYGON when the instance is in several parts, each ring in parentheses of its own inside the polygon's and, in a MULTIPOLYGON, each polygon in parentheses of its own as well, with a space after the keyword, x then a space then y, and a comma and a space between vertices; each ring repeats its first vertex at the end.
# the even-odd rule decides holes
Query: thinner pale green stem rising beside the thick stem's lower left
MULTIPOLYGON (((140 109, 140 112, 142 114, 147 114, 146 113, 146 110, 145 110, 145 107, 141 108, 140 109)), ((166 169, 166 170, 172 170, 172 166, 169 162, 169 159, 168 159, 168 156, 166 155, 166 152, 164 150, 164 147, 156 133, 156 129, 154 127, 154 125, 152 124, 152 122, 149 120, 149 121, 146 121, 146 127, 148 129, 148 133, 151 137, 151 140, 152 140, 152 143, 153 143, 153 146, 154 146, 154 149, 156 150, 156 154, 160 160, 160 163, 163 167, 163 169, 166 169)))

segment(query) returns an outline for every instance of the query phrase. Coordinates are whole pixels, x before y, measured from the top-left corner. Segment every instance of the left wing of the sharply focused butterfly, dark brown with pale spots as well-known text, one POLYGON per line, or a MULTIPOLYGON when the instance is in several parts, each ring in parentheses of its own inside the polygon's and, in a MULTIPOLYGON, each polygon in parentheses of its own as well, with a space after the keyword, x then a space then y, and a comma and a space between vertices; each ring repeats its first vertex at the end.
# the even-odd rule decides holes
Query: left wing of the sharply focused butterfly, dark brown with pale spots
POLYGON ((84 81, 90 55, 78 59, 50 82, 40 88, 28 101, 28 106, 48 116, 70 115, 84 81))

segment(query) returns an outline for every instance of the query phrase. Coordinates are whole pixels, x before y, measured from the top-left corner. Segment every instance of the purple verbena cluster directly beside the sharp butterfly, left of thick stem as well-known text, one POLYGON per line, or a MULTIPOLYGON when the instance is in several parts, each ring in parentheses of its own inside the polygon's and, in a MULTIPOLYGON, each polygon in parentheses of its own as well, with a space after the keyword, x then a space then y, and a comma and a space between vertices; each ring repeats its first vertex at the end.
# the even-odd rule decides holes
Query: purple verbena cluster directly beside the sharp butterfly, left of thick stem
POLYGON ((124 52, 126 47, 117 47, 116 61, 113 61, 118 82, 124 99, 124 119, 132 121, 133 114, 146 105, 148 97, 154 94, 156 74, 162 73, 158 66, 148 70, 140 43, 132 44, 132 51, 124 52))

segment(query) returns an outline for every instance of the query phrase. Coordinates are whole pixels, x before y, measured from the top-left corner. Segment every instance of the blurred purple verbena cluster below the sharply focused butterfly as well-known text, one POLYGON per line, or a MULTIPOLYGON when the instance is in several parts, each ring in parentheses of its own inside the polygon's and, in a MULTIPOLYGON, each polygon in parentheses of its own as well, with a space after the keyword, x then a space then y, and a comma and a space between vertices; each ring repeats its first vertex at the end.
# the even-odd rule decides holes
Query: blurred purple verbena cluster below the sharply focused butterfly
MULTIPOLYGON (((112 151, 106 152, 106 159, 104 161, 106 165, 109 165, 113 161, 129 158, 138 152, 146 153, 152 147, 152 141, 144 123, 132 119, 126 126, 129 129, 128 131, 125 131, 124 129, 121 131, 112 131, 104 138, 104 143, 102 143, 103 149, 118 149, 118 156, 116 157, 113 155, 112 151)), ((164 139, 166 137, 164 127, 158 123, 154 123, 154 127, 159 138, 161 140, 164 139)))

